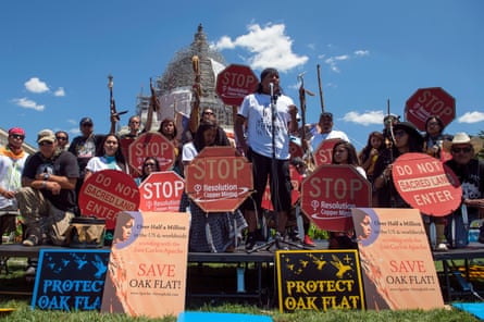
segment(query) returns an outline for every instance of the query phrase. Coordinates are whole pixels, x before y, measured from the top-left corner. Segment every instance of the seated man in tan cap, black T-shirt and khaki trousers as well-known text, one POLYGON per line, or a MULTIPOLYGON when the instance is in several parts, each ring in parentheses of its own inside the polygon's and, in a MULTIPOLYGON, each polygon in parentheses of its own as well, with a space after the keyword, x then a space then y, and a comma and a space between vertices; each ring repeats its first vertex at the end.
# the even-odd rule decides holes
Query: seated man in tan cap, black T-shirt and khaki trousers
POLYGON ((63 245, 76 208, 79 169, 72 153, 58 149, 52 131, 40 131, 37 144, 39 151, 25 162, 22 188, 15 194, 26 226, 23 245, 63 245))

